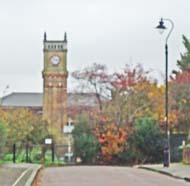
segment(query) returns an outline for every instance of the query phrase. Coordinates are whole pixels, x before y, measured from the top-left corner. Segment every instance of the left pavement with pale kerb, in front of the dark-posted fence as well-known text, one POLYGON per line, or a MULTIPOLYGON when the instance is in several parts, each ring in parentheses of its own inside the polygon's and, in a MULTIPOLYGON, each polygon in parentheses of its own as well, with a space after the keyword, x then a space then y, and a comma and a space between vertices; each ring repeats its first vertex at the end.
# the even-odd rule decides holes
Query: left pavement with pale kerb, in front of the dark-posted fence
POLYGON ((0 167, 0 185, 30 186, 40 168, 37 164, 4 164, 0 167))

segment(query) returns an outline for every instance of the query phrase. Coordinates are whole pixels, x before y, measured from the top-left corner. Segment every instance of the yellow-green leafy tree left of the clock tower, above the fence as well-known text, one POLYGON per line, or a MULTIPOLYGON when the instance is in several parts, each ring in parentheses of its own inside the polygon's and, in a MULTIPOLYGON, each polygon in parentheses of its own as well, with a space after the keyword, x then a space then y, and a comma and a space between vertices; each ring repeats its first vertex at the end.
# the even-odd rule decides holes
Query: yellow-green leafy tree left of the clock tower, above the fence
POLYGON ((9 145, 26 141, 41 143, 49 135, 47 123, 29 109, 10 109, 2 111, 2 114, 9 145))

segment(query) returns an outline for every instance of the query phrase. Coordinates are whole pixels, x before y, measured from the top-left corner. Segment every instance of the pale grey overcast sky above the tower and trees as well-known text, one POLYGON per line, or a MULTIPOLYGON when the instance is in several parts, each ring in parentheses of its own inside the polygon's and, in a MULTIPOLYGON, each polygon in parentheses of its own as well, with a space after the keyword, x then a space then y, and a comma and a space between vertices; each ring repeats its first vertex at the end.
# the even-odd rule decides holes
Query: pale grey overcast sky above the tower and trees
POLYGON ((188 0, 0 0, 0 95, 6 85, 5 94, 42 92, 44 31, 50 40, 67 32, 70 72, 94 62, 114 71, 142 63, 160 78, 166 33, 160 36, 155 27, 161 17, 175 24, 171 71, 184 51, 182 34, 190 38, 189 7, 188 0))

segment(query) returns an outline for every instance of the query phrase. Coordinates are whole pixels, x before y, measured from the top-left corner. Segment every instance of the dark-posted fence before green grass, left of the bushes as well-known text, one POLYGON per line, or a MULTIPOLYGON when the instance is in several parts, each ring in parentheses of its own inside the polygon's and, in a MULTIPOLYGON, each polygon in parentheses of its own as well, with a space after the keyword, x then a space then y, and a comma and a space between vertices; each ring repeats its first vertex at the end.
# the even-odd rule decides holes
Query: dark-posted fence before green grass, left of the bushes
POLYGON ((68 144, 13 144, 6 149, 4 161, 26 163, 64 163, 73 161, 73 149, 68 144))

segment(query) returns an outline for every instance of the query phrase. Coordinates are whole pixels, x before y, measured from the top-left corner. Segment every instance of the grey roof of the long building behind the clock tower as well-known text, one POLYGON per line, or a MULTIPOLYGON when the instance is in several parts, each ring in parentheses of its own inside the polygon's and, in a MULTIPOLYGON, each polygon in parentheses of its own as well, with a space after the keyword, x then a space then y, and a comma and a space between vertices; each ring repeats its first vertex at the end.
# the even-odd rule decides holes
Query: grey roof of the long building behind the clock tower
MULTIPOLYGON (((42 107, 43 94, 13 92, 0 99, 0 105, 7 107, 42 107)), ((93 93, 68 93, 68 107, 97 106, 98 101, 93 93)))

